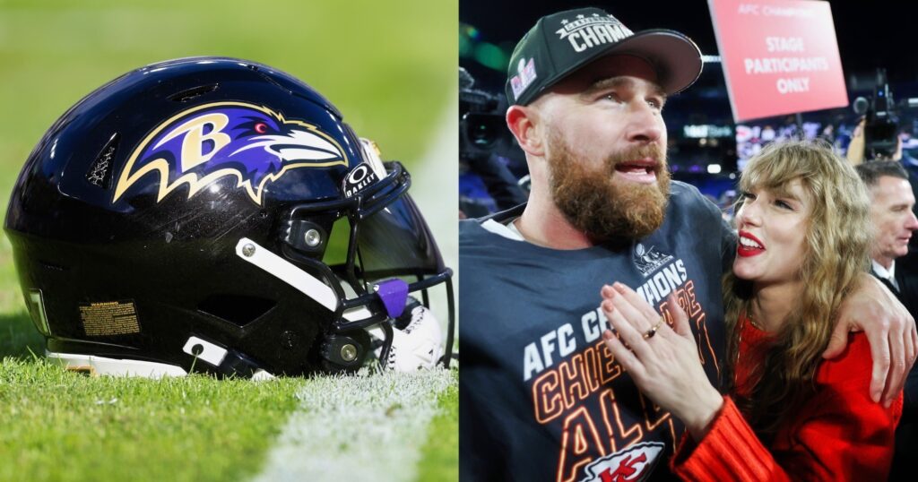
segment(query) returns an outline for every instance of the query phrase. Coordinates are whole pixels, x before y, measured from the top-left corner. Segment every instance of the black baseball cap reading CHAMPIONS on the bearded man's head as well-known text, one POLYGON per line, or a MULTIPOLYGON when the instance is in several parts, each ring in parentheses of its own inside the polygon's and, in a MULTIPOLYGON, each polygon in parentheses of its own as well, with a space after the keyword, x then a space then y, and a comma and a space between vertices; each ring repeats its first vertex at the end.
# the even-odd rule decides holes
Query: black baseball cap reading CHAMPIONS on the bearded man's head
POLYGON ((599 57, 633 55, 649 62, 666 94, 694 84, 701 50, 692 39, 662 28, 633 33, 599 8, 577 8, 539 19, 520 40, 507 68, 509 104, 525 106, 599 57))

